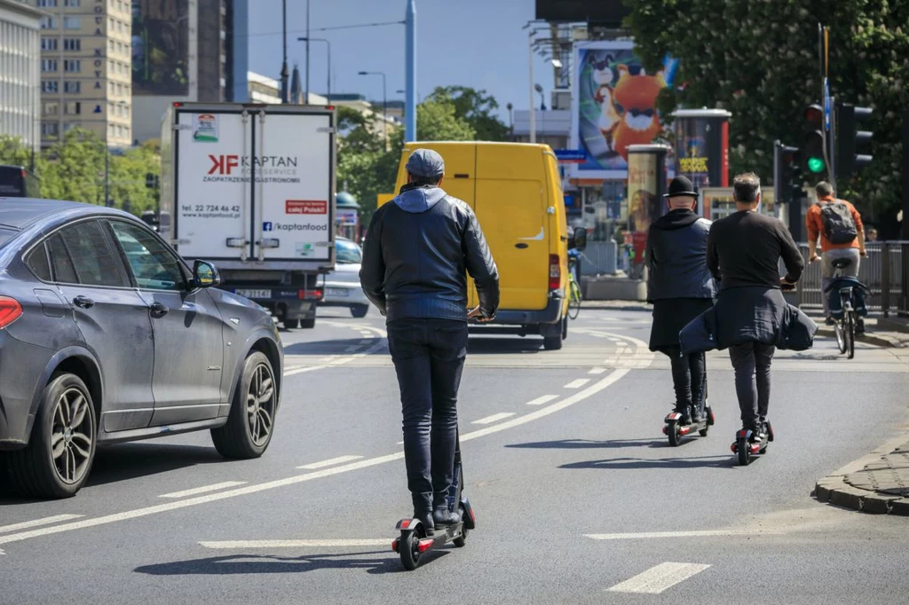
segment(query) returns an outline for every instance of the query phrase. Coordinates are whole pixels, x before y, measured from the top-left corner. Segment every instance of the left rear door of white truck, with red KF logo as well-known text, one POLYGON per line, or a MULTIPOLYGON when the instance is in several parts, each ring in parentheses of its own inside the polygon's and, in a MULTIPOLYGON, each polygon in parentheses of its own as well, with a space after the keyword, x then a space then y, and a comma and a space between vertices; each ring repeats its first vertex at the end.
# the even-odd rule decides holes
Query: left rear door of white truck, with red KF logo
POLYGON ((207 111, 175 116, 177 249, 190 259, 248 257, 250 117, 207 111))

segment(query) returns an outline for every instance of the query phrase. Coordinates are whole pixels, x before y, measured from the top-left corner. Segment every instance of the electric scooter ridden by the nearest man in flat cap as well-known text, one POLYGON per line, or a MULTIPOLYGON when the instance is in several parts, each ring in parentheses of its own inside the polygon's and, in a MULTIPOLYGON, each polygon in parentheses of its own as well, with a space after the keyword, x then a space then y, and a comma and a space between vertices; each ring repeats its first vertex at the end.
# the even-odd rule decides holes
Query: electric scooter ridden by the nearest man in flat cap
POLYGON ((460 436, 454 446, 454 481, 448 491, 448 510, 457 512, 461 521, 447 527, 436 527, 435 534, 427 536, 423 522, 419 519, 402 519, 395 530, 401 535, 392 541, 392 550, 401 555, 401 564, 406 570, 415 570, 424 555, 442 548, 448 542, 461 548, 467 541, 467 533, 476 527, 474 509, 464 494, 464 472, 461 464, 460 436))

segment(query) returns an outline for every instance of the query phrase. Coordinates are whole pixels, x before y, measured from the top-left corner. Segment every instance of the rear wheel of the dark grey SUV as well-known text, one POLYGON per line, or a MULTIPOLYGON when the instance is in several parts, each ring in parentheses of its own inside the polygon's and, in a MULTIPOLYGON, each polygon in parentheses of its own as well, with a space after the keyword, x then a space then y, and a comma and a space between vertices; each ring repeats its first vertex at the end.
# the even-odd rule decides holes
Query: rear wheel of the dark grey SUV
POLYGON ((75 496, 95 461, 95 404, 85 382, 59 374, 41 393, 32 437, 23 450, 10 451, 13 483, 25 496, 75 496))

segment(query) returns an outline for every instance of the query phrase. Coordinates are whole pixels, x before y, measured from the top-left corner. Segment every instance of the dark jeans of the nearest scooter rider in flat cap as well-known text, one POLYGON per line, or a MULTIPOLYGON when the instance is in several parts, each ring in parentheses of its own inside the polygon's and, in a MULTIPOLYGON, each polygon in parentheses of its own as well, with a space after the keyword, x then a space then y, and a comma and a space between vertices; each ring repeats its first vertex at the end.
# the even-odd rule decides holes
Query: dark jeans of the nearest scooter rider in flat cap
POLYGON ((388 323, 404 413, 407 487, 447 492, 454 475, 457 392, 467 356, 467 323, 437 319, 388 323))

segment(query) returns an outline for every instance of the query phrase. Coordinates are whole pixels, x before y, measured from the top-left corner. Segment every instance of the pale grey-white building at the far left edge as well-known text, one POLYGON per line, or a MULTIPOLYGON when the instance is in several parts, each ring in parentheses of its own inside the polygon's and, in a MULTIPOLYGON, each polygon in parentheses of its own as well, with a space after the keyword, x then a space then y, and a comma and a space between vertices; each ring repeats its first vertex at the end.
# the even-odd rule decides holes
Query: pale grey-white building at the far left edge
POLYGON ((41 13, 0 0, 0 134, 35 149, 41 128, 41 13))

